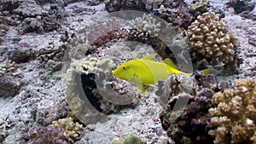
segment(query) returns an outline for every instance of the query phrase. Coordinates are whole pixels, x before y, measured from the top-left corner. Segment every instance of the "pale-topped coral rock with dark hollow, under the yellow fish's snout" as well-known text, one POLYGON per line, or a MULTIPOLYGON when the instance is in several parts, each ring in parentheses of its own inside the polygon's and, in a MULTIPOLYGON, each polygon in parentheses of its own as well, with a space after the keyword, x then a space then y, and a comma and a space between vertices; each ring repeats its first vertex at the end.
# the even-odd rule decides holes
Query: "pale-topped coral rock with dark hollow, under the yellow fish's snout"
POLYGON ((110 79, 114 67, 113 60, 99 60, 90 55, 82 60, 72 60, 66 76, 67 101, 68 107, 82 119, 82 123, 95 123, 100 118, 95 118, 99 112, 119 112, 122 107, 137 105, 140 91, 131 84, 125 91, 113 91, 116 88, 113 84, 118 84, 110 79))

